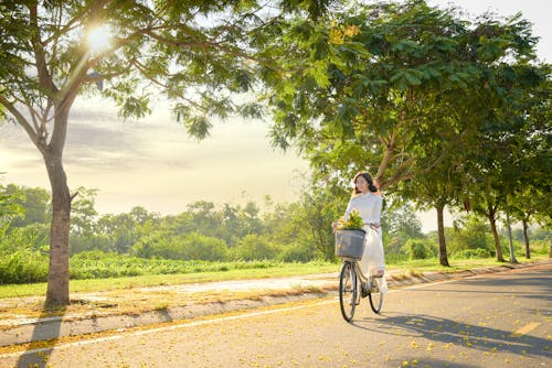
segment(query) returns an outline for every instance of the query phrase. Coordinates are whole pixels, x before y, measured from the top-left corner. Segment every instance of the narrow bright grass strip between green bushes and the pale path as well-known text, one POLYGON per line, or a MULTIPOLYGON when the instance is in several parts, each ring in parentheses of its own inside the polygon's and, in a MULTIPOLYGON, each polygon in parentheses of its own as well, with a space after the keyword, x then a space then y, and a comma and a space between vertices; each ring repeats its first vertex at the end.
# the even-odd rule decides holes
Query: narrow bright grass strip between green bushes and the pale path
MULTIPOLYGON (((531 260, 518 258, 521 263, 532 262, 535 260, 548 259, 548 256, 535 256, 531 260)), ((425 259, 416 261, 401 262, 396 264, 388 264, 388 268, 395 273, 423 273, 423 272, 455 272, 469 270, 481 267, 498 267, 508 263, 497 262, 495 259, 466 259, 466 260, 449 260, 450 267, 442 267, 437 259, 425 259)), ((340 263, 331 262, 310 262, 310 263, 282 263, 269 268, 258 269, 237 269, 217 272, 194 272, 183 274, 148 274, 127 278, 109 278, 109 279, 91 279, 91 280, 72 280, 70 290, 72 293, 110 291, 117 289, 131 289, 155 285, 171 285, 197 282, 214 282, 230 280, 246 280, 246 279, 265 279, 279 278, 290 275, 304 275, 315 273, 338 272, 340 263)), ((45 295, 46 283, 32 284, 6 284, 0 285, 0 299, 17 297, 17 296, 41 296, 45 295)))

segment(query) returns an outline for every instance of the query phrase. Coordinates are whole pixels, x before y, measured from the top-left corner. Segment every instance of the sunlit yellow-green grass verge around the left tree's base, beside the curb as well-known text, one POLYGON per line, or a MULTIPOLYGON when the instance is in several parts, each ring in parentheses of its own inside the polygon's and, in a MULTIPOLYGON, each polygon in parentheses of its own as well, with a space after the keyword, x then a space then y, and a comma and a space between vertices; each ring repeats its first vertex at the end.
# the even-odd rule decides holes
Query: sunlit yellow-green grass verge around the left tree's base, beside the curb
MULTIPOLYGON (((538 256, 531 260, 519 257, 520 262, 548 259, 538 256)), ((498 267, 508 263, 486 260, 449 260, 450 268, 438 266, 437 259, 417 260, 388 264, 393 280, 406 279, 412 275, 431 271, 458 272, 480 267, 498 267)), ((263 279, 293 277, 316 273, 338 274, 340 263, 279 263, 259 269, 240 269, 217 272, 197 272, 185 274, 140 275, 114 279, 72 280, 70 282, 72 303, 60 311, 44 309, 45 283, 0 285, 0 333, 2 321, 25 317, 45 316, 88 316, 132 315, 142 312, 164 312, 173 306, 208 307, 210 303, 223 303, 234 300, 256 301, 264 296, 289 296, 308 293, 328 292, 337 289, 337 282, 328 279, 328 283, 318 286, 294 286, 289 290, 219 290, 182 292, 179 288, 163 288, 187 283, 231 281, 245 279, 263 279), (148 288, 150 286, 150 288, 148 288), (159 286, 159 288, 155 288, 159 286)), ((337 281, 337 277, 336 280, 337 281)))

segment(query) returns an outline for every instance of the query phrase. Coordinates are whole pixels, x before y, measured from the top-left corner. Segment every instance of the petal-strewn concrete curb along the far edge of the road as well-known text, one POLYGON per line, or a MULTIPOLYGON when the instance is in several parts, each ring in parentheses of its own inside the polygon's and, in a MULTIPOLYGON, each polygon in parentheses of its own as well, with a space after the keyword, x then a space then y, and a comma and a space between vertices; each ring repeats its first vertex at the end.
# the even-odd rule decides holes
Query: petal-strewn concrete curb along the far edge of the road
MULTIPOLYGON (((520 264, 505 264, 492 268, 478 268, 459 272, 425 272, 421 274, 399 275, 391 272, 388 282, 390 289, 400 289, 408 285, 469 278, 485 273, 497 273, 512 269, 530 268, 552 263, 550 260, 520 264)), ((190 305, 169 306, 159 311, 149 311, 140 314, 107 314, 96 316, 65 315, 63 317, 22 318, 0 331, 0 347, 54 339, 66 336, 78 336, 106 331, 124 331, 126 328, 189 320, 225 312, 248 310, 261 306, 276 305, 304 300, 312 300, 336 295, 338 288, 337 274, 310 275, 301 278, 308 284, 318 280, 312 292, 297 295, 267 296, 259 295, 255 299, 232 300, 220 303, 193 303, 190 305), (319 288, 326 284, 325 288, 319 288)), ((214 283, 216 284, 216 283, 214 283)), ((308 290, 308 288, 307 288, 308 290)), ((262 290, 259 290, 262 293, 262 290)))

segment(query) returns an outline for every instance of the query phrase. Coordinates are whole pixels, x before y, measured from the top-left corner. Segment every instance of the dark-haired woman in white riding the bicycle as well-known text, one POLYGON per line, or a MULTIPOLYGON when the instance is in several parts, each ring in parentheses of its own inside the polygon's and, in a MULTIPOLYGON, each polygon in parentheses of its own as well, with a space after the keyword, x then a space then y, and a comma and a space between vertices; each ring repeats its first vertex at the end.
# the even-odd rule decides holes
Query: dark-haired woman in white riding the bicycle
POLYGON ((385 281, 385 259, 380 227, 382 196, 375 187, 372 176, 368 172, 360 172, 353 178, 354 190, 344 213, 348 220, 352 210, 358 210, 364 220, 364 253, 360 260, 360 268, 365 275, 375 277, 378 288, 388 290, 385 281))

